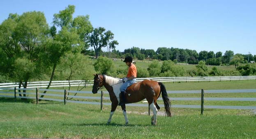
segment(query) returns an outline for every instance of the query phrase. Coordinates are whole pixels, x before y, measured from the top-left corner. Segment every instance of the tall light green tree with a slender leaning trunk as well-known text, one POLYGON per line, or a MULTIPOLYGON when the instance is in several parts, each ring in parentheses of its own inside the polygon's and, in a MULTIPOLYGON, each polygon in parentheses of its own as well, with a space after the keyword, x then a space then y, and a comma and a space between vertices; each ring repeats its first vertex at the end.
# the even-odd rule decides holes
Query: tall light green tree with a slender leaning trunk
MULTIPOLYGON (((89 16, 78 16, 73 19, 75 6, 68 5, 64 10, 54 14, 53 26, 50 29, 48 39, 44 43, 41 57, 45 65, 52 67, 50 81, 46 89, 51 86, 55 69, 60 64, 60 59, 69 52, 80 53, 83 48, 86 48, 86 36, 92 30, 92 25, 89 21, 89 16), (60 30, 57 33, 56 28, 60 30)), ((44 91, 46 93, 46 91, 44 91)), ((41 97, 44 97, 42 95, 41 97)))

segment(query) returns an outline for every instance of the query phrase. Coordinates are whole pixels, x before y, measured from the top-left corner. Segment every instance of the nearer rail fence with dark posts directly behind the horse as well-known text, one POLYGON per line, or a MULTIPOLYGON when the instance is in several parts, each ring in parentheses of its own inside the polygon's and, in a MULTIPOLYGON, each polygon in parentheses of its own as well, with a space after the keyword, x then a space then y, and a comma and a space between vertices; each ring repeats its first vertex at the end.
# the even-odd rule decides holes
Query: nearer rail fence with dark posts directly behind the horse
MULTIPOLYGON (((67 90, 56 90, 56 89, 16 89, 16 88, 0 88, 0 97, 8 97, 8 98, 30 98, 38 100, 52 100, 52 101, 60 101, 64 103, 83 103, 83 104, 92 104, 92 105, 103 105, 103 100, 110 100, 109 97, 103 97, 103 93, 108 92, 98 92, 101 93, 101 97, 93 97, 93 96, 84 96, 85 94, 92 94, 91 91, 67 91, 67 90), (30 93, 17 92, 18 90, 27 90, 30 93), (58 94, 54 93, 40 93, 40 91, 51 91, 58 92, 58 94), (83 96, 74 96, 74 94, 69 93, 78 93, 83 96), (3 94, 3 95, 1 95, 3 94), (18 94, 26 94, 29 95, 19 96, 18 94), (39 95, 50 96, 52 98, 40 98, 39 95), (78 98, 80 100, 67 100, 67 98, 78 98), (89 99, 90 101, 83 101, 81 99, 89 99), (101 100, 101 103, 95 102, 94 100, 101 100)), ((167 91, 167 93, 256 93, 256 89, 230 89, 230 90, 193 90, 193 91, 167 91)), ((256 98, 172 98, 170 100, 201 100, 201 103, 205 101, 256 101, 256 98), (203 99, 202 99, 203 98, 203 99)), ((162 100, 162 98, 158 98, 162 100)), ((200 103, 200 104, 201 104, 200 103)), ((256 109, 256 106, 221 106, 221 105, 171 105, 171 107, 179 107, 179 108, 210 108, 210 109, 256 109)), ((111 103, 104 103, 104 105, 111 105, 111 103)), ((127 106, 137 106, 137 107, 148 107, 148 104, 134 103, 127 104, 127 106)), ((164 107, 164 105, 159 105, 160 107, 164 107)))

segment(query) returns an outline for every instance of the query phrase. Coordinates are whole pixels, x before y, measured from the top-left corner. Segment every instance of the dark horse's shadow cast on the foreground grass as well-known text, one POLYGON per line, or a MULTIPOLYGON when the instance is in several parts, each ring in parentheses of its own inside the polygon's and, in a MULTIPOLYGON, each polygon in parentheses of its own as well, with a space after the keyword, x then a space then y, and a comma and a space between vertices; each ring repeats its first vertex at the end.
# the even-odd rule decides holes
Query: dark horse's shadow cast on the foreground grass
POLYGON ((120 124, 120 123, 110 123, 110 124, 106 124, 106 123, 81 123, 81 124, 76 124, 76 123, 64 123, 63 125, 67 125, 67 126, 125 126, 125 127, 134 127, 134 126, 150 126, 150 125, 141 125, 141 124, 128 124, 128 125, 124 125, 124 124, 120 124))

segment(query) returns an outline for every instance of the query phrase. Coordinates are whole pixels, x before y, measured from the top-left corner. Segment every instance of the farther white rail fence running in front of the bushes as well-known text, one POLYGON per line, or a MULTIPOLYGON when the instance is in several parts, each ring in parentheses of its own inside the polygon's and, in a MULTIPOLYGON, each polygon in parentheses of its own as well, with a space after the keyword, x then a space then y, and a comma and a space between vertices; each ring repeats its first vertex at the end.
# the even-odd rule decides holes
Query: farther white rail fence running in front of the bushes
MULTIPOLYGON (((151 78, 137 78, 137 82, 150 79, 157 82, 203 82, 203 81, 225 81, 225 80, 256 80, 256 76, 222 76, 222 77, 151 77, 151 78)), ((81 80, 72 81, 52 81, 51 87, 69 87, 69 82, 72 86, 84 86, 85 82, 81 80)), ((27 88, 45 88, 49 82, 28 82, 27 88)), ((89 81, 87 86, 93 84, 93 81, 89 81)), ((18 87, 18 83, 3 83, 0 87, 18 87)))

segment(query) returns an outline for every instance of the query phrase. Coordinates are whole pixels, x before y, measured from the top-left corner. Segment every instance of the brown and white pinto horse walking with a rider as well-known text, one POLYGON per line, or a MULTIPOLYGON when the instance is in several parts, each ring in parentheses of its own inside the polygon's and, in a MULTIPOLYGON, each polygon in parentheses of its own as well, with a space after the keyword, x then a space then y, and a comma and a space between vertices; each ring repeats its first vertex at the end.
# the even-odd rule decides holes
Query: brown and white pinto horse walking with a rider
MULTIPOLYGON (((111 122, 111 118, 120 103, 120 87, 123 84, 122 79, 117 79, 107 75, 94 75, 92 93, 97 93, 99 89, 106 88, 110 100, 111 100, 111 112, 108 118, 107 124, 111 122)), ((143 99, 148 101, 149 108, 152 109, 153 116, 151 118, 151 125, 157 125, 157 112, 160 107, 157 105, 157 98, 159 98, 162 93, 162 98, 164 100, 164 108, 167 116, 171 115, 171 102, 168 98, 166 88, 163 83, 156 82, 154 80, 143 80, 129 86, 125 91, 126 104, 127 103, 137 103, 143 99)), ((126 107, 122 105, 122 112, 125 116, 125 125, 128 124, 128 118, 126 114, 126 107)))

